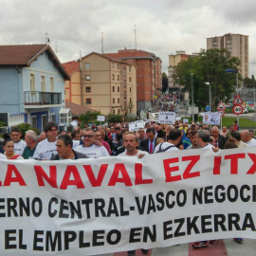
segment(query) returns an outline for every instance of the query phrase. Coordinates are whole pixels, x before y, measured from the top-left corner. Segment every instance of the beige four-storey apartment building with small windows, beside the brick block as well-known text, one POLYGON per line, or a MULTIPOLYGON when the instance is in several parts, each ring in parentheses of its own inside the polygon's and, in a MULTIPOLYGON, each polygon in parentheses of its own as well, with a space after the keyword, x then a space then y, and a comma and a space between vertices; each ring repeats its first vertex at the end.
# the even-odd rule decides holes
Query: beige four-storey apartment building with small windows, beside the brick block
MULTIPOLYGON (((137 114, 136 64, 96 52, 84 56, 81 62, 83 106, 103 115, 137 114)), ((66 99, 69 101, 70 96, 66 99)))

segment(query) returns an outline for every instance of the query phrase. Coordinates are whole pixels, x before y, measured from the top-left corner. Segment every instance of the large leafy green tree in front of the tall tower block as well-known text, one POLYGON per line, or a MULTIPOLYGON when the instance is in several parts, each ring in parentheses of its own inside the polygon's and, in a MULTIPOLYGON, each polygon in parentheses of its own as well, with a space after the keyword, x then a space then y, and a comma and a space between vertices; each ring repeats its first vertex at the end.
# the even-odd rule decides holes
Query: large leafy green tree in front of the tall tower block
POLYGON ((240 60, 231 57, 226 49, 201 50, 199 56, 192 56, 175 67, 174 80, 177 81, 179 77, 180 84, 183 83, 184 89, 189 91, 190 95, 193 84, 194 104, 201 109, 210 103, 210 89, 214 111, 219 101, 227 101, 235 91, 236 76, 226 73, 225 70, 238 70, 239 64, 240 60), (210 82, 210 86, 206 82, 210 82))

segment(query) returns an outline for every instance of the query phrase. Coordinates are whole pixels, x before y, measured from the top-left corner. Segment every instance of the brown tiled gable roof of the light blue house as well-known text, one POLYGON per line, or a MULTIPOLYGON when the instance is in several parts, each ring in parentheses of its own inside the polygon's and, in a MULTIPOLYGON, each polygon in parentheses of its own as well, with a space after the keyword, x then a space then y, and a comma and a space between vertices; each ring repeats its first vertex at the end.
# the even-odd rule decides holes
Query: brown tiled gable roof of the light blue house
POLYGON ((49 45, 14 45, 0 46, 0 66, 1 65, 22 65, 29 66, 37 60, 43 53, 49 55, 49 59, 55 64, 64 76, 64 80, 70 80, 63 65, 49 45))

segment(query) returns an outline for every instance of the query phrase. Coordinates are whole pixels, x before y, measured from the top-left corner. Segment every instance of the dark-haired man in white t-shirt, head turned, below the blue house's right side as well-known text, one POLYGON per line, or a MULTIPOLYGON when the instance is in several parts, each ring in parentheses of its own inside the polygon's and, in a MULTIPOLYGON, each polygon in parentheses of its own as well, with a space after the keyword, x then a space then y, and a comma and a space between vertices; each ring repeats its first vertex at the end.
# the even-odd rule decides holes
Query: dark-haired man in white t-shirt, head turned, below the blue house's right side
POLYGON ((38 143, 34 159, 37 160, 50 160, 52 155, 57 154, 56 142, 58 137, 58 124, 54 121, 49 121, 45 127, 46 139, 38 143))

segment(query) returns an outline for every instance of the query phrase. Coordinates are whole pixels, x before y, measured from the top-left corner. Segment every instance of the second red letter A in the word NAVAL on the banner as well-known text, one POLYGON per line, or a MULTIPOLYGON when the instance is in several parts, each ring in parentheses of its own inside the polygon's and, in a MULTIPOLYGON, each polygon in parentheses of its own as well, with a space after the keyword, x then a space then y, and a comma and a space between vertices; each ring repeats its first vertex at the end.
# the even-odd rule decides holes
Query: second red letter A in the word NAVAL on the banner
POLYGON ((125 186, 133 186, 130 176, 122 163, 115 165, 114 172, 109 180, 108 186, 116 186, 117 182, 124 183, 125 186), (121 174, 122 177, 119 177, 119 174, 121 174))

